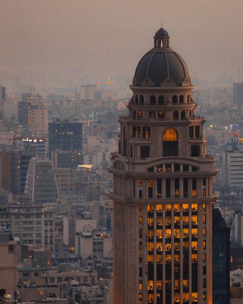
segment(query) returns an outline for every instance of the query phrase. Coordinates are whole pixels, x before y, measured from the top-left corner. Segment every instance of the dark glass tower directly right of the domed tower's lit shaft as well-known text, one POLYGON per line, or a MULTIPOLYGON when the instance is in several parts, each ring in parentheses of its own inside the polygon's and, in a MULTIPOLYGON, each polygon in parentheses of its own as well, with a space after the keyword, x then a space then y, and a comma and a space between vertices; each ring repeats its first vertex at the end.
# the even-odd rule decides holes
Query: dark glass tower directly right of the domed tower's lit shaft
POLYGON ((213 207, 213 304, 230 302, 230 227, 213 207))

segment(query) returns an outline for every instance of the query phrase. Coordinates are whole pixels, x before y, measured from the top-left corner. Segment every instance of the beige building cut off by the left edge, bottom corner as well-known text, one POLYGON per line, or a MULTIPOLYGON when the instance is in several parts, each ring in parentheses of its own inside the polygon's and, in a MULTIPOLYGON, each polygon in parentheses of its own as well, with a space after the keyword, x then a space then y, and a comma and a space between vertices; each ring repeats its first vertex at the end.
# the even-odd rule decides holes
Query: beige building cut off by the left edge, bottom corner
POLYGON ((8 299, 13 301, 17 283, 16 242, 5 227, 0 230, 0 259, 0 290, 5 290, 8 299))

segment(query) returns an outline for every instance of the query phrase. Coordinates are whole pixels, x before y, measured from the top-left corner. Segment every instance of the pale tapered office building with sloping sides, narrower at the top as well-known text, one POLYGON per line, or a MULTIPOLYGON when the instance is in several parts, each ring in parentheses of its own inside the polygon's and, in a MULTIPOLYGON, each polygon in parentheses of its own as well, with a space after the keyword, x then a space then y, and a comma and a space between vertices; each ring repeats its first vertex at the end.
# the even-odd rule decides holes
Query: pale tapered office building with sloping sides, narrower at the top
POLYGON ((38 204, 55 204, 60 198, 49 158, 33 157, 30 160, 25 193, 30 195, 32 202, 38 204))

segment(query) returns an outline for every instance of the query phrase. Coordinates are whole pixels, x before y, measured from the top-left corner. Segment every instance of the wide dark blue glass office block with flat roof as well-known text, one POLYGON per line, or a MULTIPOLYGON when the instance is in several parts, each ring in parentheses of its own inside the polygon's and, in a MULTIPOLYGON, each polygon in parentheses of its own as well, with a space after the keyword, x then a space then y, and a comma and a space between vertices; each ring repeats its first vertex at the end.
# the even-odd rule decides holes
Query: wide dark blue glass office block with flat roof
POLYGON ((77 121, 49 123, 49 158, 57 149, 82 153, 83 124, 77 121))

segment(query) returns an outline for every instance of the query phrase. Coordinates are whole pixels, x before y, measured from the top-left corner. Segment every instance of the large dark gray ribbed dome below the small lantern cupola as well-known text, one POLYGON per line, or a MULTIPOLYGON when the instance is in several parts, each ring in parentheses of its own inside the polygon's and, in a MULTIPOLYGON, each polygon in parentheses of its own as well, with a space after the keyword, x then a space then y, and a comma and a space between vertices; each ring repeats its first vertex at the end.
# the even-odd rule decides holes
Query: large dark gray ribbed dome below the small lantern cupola
POLYGON ((172 49, 154 48, 139 61, 133 85, 184 86, 191 85, 185 61, 172 49))

